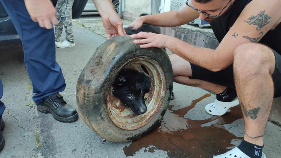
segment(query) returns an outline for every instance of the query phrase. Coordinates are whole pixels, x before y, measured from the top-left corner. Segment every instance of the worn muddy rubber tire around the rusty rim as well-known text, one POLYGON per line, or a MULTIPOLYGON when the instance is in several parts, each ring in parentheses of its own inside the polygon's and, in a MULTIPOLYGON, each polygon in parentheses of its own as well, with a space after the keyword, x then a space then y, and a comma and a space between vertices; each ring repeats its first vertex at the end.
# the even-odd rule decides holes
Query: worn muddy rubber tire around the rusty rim
POLYGON ((76 100, 79 116, 98 135, 110 142, 127 142, 151 132, 161 121, 170 102, 173 71, 168 55, 160 48, 141 49, 130 36, 116 36, 99 46, 81 72, 76 100), (165 94, 159 111, 147 124, 135 130, 117 127, 106 108, 108 92, 118 72, 137 57, 148 57, 161 65, 165 74, 165 94))

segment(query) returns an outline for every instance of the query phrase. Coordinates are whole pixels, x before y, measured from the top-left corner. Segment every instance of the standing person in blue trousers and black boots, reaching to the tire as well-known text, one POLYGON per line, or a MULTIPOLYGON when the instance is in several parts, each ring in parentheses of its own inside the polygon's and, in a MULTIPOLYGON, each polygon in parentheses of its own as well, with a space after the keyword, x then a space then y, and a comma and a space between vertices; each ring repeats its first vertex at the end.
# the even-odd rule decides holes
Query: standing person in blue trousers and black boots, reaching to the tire
MULTIPOLYGON (((50 0, 0 0, 10 16, 22 41, 24 62, 33 86, 33 100, 40 112, 51 113, 61 122, 74 122, 78 113, 59 94, 65 89, 65 79, 56 62, 53 25, 56 11, 50 0)), ((126 35, 122 20, 110 0, 93 0, 103 19, 107 37, 126 35)), ((3 83, 0 79, 0 100, 3 83)), ((0 101, 0 152, 5 141, 1 131, 5 124, 2 114, 5 105, 0 101)))

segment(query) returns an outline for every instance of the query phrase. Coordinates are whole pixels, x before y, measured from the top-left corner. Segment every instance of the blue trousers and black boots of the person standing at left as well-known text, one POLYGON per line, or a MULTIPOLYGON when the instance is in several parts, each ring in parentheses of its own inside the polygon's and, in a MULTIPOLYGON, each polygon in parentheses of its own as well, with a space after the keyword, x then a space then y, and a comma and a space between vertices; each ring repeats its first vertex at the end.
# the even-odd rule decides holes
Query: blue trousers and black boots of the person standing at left
MULTIPOLYGON (((56 62, 55 39, 53 29, 40 27, 34 22, 24 0, 1 0, 6 12, 10 16, 17 33, 22 41, 24 63, 32 81, 32 97, 40 112, 51 113, 61 122, 77 121, 78 113, 67 104, 63 96, 58 94, 65 89, 65 79, 61 67, 56 62)), ((3 84, 0 79, 0 99, 3 95, 3 84)), ((3 131, 2 114, 5 105, 0 101, 0 129, 3 131)), ((0 132, 0 151, 5 141, 0 132)))

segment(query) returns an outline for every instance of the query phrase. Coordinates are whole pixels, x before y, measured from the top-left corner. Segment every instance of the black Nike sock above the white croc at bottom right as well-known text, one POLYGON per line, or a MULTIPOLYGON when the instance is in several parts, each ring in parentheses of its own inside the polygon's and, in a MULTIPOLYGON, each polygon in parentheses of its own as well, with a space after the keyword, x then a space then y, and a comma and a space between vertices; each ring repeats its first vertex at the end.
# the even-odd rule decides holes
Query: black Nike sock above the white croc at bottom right
POLYGON ((263 147, 264 146, 249 143, 243 139, 240 145, 238 146, 238 149, 240 149, 243 153, 245 153, 251 158, 261 158, 263 147))

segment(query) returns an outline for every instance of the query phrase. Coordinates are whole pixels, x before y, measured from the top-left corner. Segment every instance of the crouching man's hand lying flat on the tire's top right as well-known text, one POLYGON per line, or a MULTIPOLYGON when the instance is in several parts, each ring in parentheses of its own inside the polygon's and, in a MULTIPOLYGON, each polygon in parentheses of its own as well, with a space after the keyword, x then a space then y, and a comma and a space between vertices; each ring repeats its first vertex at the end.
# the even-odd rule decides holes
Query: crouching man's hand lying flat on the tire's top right
POLYGON ((134 40, 134 44, 141 44, 140 48, 165 48, 167 43, 172 38, 171 36, 161 35, 151 32, 140 32, 137 34, 130 35, 132 38, 143 38, 141 40, 134 40))

